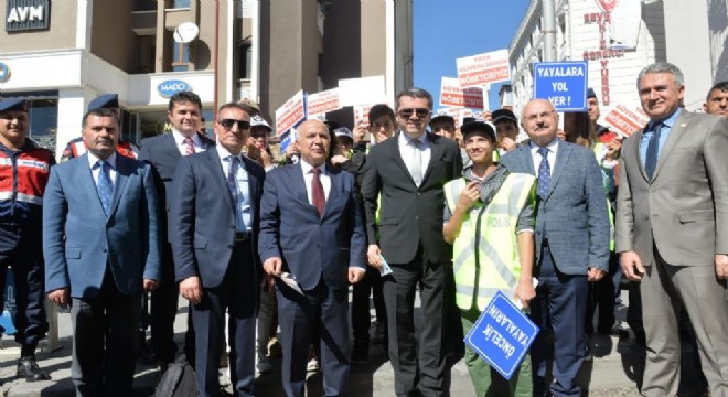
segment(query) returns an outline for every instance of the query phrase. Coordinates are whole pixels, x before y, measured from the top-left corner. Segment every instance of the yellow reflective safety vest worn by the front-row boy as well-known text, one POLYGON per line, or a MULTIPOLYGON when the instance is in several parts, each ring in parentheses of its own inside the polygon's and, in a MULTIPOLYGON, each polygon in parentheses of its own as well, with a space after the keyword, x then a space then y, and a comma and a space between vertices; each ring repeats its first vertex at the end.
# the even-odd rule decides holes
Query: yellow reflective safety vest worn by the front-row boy
MULTIPOLYGON (((460 309, 482 311, 499 290, 506 294, 515 290, 521 273, 516 224, 526 201, 534 197, 535 182, 533 175, 511 173, 488 206, 475 203, 464 215, 452 250, 460 309)), ((446 183, 451 211, 467 184, 464 179, 446 183)))

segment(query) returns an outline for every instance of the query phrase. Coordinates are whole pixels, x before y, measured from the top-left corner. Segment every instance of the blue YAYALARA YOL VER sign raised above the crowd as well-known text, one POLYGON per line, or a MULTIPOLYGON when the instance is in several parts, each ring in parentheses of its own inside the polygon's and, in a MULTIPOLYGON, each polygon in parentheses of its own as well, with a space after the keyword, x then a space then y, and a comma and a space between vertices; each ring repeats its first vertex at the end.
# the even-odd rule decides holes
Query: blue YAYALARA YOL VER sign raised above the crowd
POLYGON ((581 62, 534 64, 534 98, 548 99, 557 111, 587 111, 588 66, 581 62))

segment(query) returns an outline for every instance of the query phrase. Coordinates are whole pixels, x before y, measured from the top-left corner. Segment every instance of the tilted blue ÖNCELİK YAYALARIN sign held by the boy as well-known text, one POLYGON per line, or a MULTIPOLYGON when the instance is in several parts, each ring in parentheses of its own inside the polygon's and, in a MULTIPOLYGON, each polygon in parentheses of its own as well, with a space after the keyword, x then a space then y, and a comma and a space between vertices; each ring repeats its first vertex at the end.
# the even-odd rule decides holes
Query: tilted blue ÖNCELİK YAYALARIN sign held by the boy
POLYGON ((511 379, 537 334, 538 326, 497 291, 465 336, 465 343, 511 379))

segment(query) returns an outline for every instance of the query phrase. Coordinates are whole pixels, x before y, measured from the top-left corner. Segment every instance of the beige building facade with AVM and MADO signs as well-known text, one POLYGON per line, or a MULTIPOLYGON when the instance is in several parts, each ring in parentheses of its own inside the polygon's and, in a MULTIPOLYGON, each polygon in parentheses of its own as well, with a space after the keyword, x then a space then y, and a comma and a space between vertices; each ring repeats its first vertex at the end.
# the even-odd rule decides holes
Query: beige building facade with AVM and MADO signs
POLYGON ((138 141, 170 130, 169 96, 182 88, 210 125, 242 98, 274 121, 299 89, 340 78, 384 75, 389 96, 411 85, 411 0, 7 0, 4 15, 0 98, 31 98, 31 136, 56 153, 106 93, 138 141))

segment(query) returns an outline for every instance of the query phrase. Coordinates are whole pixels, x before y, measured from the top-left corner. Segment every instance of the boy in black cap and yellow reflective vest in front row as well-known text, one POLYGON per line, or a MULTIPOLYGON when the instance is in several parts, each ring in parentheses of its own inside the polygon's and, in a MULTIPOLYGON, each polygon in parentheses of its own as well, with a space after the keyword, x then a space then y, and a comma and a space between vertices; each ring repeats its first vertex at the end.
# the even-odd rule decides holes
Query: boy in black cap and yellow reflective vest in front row
MULTIPOLYGON (((493 162, 493 128, 481 121, 461 128, 472 167, 445 185, 445 240, 453 245, 456 302, 468 333, 497 290, 524 308, 536 296, 534 187, 536 179, 493 162)), ((465 365, 478 396, 532 396, 531 357, 506 380, 471 348, 465 365)))

